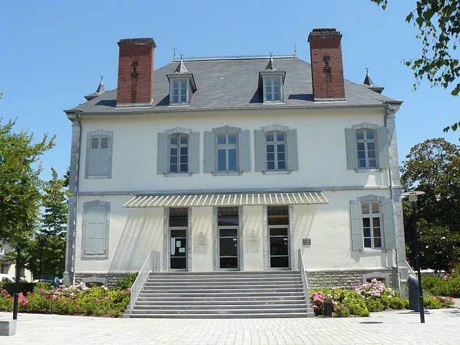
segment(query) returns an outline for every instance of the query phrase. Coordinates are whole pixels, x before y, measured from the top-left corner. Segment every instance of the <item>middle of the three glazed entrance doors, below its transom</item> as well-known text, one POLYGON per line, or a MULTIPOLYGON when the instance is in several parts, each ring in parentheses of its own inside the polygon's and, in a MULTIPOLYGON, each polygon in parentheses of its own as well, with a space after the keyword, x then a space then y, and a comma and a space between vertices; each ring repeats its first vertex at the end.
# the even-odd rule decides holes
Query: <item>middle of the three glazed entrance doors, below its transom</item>
POLYGON ((219 267, 237 270, 238 262, 238 228, 219 228, 219 267))

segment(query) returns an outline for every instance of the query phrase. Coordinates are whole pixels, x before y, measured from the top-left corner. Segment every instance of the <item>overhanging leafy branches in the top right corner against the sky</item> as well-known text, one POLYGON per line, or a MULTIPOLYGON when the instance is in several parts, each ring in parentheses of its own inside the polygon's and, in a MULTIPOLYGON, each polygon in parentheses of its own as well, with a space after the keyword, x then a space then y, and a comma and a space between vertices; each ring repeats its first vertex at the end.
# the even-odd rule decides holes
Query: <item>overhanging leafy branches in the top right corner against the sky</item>
MULTIPOLYGON (((371 0, 385 10, 388 0, 371 0)), ((455 57, 460 34, 460 0, 417 0, 415 10, 406 17, 419 30, 417 39, 421 40, 421 57, 404 61, 412 68, 416 82, 423 77, 432 86, 452 88, 451 95, 460 92, 460 63, 455 57)), ((457 130, 460 121, 444 128, 457 130)))

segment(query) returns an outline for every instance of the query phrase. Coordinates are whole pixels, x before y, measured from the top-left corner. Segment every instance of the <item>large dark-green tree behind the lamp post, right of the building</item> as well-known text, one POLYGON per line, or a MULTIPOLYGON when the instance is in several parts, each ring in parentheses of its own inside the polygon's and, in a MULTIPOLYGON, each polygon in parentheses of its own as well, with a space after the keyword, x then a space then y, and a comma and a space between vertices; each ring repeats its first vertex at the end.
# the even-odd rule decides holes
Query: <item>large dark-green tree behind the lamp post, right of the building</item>
MULTIPOLYGON (((446 269, 452 246, 460 248, 460 146, 428 139, 410 149, 401 168, 405 191, 421 190, 417 205, 421 265, 446 269)), ((408 257, 413 262, 412 210, 403 204, 408 257)), ((456 256, 457 257, 457 256, 456 256)))

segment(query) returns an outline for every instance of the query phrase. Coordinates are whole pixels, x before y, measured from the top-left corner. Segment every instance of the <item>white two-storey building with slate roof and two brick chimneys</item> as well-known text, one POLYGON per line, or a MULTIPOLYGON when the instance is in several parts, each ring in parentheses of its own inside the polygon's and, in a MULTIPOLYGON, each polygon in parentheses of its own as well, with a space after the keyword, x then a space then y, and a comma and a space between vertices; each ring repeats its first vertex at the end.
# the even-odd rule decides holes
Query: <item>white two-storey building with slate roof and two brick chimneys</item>
MULTIPOLYGON (((341 34, 297 56, 175 60, 119 41, 118 88, 72 121, 66 277, 161 270, 298 270, 310 286, 406 284, 394 114, 343 79, 341 34)), ((105 280, 107 282, 107 280, 105 280)))

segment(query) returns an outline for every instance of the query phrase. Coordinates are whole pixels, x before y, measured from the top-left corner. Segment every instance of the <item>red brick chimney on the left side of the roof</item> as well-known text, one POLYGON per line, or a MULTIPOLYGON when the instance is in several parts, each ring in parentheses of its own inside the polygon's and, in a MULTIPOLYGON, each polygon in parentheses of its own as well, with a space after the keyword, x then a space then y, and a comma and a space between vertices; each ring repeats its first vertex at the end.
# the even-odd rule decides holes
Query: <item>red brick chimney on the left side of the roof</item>
POLYGON ((153 101, 155 41, 120 39, 117 106, 150 106, 153 101))

